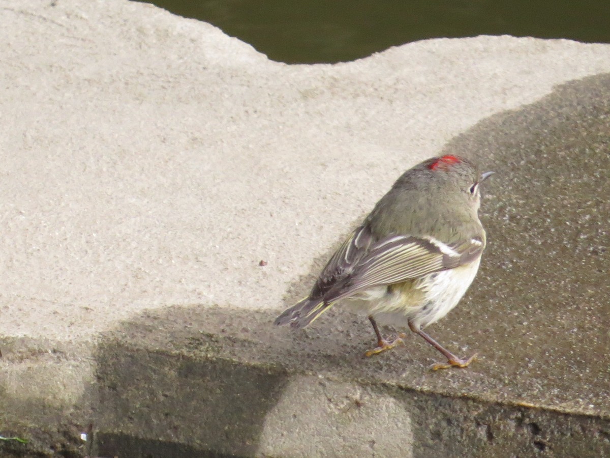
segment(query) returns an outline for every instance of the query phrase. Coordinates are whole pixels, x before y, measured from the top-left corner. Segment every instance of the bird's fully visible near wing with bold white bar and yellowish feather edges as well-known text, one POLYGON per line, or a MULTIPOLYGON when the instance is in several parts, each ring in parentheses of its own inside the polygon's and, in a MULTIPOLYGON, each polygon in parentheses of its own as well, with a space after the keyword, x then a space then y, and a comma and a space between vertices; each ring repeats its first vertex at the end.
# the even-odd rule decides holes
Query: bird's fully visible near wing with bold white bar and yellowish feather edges
POLYGON ((373 244, 351 274, 328 290, 325 300, 452 269, 476 260, 484 248, 479 238, 449 245, 431 237, 393 236, 373 244))

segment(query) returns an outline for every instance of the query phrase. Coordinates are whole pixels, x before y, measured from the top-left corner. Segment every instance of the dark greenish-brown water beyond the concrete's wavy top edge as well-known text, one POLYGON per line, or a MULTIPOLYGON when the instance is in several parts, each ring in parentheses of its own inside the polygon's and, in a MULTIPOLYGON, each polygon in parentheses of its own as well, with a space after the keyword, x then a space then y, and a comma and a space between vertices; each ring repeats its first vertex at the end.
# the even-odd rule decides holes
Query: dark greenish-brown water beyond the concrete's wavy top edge
POLYGON ((344 62, 437 37, 610 43, 610 0, 157 0, 290 64, 344 62))

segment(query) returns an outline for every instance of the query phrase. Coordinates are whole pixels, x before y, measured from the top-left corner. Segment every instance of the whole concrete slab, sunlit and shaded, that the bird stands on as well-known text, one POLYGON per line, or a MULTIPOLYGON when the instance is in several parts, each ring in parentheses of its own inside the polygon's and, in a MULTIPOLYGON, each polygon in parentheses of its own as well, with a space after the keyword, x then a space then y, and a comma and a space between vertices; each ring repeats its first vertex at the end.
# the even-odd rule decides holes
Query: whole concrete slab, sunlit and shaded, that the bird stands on
POLYGON ((0 454, 610 456, 609 45, 289 66, 122 0, 0 20, 0 435, 30 438, 0 454), (498 172, 481 272, 430 329, 480 360, 365 359, 346 310, 271 326, 443 150, 498 172))

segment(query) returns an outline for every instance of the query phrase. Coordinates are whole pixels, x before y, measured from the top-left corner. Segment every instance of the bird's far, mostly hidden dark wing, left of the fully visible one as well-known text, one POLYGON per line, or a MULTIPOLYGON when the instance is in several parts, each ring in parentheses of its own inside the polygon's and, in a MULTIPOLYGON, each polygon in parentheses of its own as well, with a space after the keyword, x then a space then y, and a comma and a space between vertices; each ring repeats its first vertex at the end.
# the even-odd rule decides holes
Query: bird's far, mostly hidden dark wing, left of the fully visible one
POLYGON ((368 224, 357 227, 332 255, 315 282, 310 297, 321 299, 337 281, 350 275, 367 254, 372 241, 373 234, 368 224))

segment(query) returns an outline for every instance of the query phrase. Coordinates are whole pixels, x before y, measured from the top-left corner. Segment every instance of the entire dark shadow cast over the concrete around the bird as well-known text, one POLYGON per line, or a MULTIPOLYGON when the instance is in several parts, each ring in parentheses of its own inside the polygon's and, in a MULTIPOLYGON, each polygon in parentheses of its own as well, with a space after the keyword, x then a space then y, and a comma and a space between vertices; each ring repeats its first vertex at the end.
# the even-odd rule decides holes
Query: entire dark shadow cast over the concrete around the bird
POLYGON ((290 378, 315 374, 401 399, 413 414, 414 456, 610 454, 610 76, 489 118, 445 152, 497 172, 484 189, 481 271, 429 329, 458 354, 478 352, 477 362, 432 373, 438 355, 415 336, 365 358, 369 325, 340 308, 295 332, 272 325, 279 304, 169 307, 101 339, 90 393, 99 448, 112 454, 127 434, 141 456, 252 456, 290 378), (192 451, 160 455, 165 443, 192 451))

